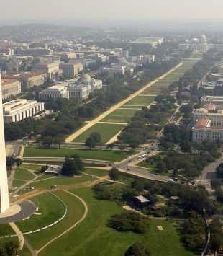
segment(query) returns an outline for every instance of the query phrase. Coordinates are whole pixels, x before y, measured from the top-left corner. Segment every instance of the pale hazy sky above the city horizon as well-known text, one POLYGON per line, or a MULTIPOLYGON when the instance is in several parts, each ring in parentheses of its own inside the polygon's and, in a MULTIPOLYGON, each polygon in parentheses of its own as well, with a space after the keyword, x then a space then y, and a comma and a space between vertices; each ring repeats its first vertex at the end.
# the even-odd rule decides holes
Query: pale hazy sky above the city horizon
POLYGON ((0 0, 1 20, 222 19, 223 0, 0 0))

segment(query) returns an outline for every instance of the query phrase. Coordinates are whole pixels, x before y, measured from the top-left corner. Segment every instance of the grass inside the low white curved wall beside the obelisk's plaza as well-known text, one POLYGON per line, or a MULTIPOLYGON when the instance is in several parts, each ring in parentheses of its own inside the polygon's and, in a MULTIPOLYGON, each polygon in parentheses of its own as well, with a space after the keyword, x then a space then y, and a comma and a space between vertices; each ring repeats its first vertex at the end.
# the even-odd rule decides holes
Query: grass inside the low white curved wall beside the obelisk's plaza
POLYGON ((58 221, 65 213, 63 203, 50 193, 38 195, 31 199, 36 206, 39 206, 40 216, 32 215, 29 219, 18 221, 16 224, 22 232, 41 229, 44 226, 58 221))

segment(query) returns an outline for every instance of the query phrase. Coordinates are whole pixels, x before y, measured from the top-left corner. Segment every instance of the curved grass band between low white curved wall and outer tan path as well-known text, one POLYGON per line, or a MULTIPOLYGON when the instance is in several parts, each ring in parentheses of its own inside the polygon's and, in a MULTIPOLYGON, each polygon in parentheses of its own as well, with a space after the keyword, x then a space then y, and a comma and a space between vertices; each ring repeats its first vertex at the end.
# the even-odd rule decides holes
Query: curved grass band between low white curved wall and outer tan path
MULTIPOLYGON (((40 247, 42 247, 54 237, 58 236, 58 234, 61 234, 63 233, 63 231, 69 229, 70 226, 75 224, 76 221, 81 219, 81 217, 83 216, 83 204, 80 200, 78 200, 78 198, 69 195, 65 191, 55 191, 54 194, 57 195, 60 200, 63 200, 63 203, 65 203, 68 208, 68 213, 65 218, 55 226, 52 226, 49 229, 42 230, 35 234, 29 234, 25 236, 25 238, 35 250, 40 249, 40 247)), ((73 239, 72 237, 70 238, 73 239)), ((59 243, 58 245, 61 247, 61 249, 64 246, 64 244, 60 244, 60 239, 55 240, 55 243, 59 243)), ((60 253, 56 252, 56 250, 53 250, 53 252, 50 252, 48 255, 60 255, 60 253)))

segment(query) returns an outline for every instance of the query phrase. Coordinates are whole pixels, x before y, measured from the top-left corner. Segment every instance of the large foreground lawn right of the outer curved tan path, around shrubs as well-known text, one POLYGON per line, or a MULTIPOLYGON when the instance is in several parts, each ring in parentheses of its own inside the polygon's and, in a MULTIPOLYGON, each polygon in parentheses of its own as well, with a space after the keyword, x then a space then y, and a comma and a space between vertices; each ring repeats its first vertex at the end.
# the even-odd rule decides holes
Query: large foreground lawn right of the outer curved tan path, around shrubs
POLYGON ((81 188, 72 192, 86 200, 88 215, 75 229, 40 252, 40 256, 123 256, 127 248, 135 242, 144 243, 151 255, 155 256, 193 255, 181 244, 180 236, 172 222, 152 219, 150 230, 145 234, 135 234, 132 231, 118 232, 106 226, 112 215, 122 212, 122 208, 117 203, 96 200, 90 188, 81 188), (163 226, 164 231, 159 231, 158 225, 163 226))

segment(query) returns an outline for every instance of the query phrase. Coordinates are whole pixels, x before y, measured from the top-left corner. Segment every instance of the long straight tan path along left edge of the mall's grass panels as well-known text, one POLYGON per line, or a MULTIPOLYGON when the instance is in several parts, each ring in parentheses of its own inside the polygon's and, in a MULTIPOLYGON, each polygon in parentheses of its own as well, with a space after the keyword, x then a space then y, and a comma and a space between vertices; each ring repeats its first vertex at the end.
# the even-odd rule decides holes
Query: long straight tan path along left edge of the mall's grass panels
MULTIPOLYGON (((117 110, 119 107, 121 107, 122 105, 124 105, 125 103, 129 102, 129 100, 132 100, 135 96, 141 94, 142 92, 144 92, 146 89, 148 89, 149 87, 151 87, 153 84, 155 84, 157 81, 160 81, 160 79, 163 79, 165 76, 168 76, 168 74, 170 74, 171 72, 175 71, 176 69, 178 69, 180 66, 182 66, 183 63, 179 63, 177 66, 175 66, 173 69, 170 69, 170 71, 166 72, 165 74, 163 74, 162 76, 158 77, 157 79, 151 81, 149 84, 145 85, 145 87, 142 87, 140 90, 138 90, 137 92, 135 92, 134 94, 131 94, 129 97, 127 97, 126 99, 122 100, 121 102, 117 103, 116 105, 112 106, 109 108, 109 110, 105 111, 104 113, 102 113, 101 115, 99 115, 97 118, 95 118, 94 120, 91 120, 91 122, 87 123, 86 125, 84 125, 82 128, 80 128, 78 131, 76 131, 75 133, 71 134, 70 136, 68 136, 68 138, 65 139, 66 143, 70 143, 72 142, 75 138, 77 138, 79 135, 81 135, 81 133, 83 133, 84 131, 88 130, 88 128, 91 128, 93 125, 95 125, 96 123, 99 123, 99 121, 101 121, 102 119, 104 119, 107 115, 111 114, 111 112, 113 112, 114 110, 117 110)), ((22 149, 21 149, 22 152, 22 149)))

